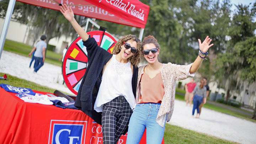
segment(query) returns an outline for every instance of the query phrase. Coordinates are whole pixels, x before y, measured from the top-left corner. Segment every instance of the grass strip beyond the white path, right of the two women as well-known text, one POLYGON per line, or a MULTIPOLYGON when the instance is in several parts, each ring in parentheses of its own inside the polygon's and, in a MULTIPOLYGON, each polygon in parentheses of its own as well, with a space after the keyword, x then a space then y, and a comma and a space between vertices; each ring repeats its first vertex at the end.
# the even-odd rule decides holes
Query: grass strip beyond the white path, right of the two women
MULTIPOLYGON (((184 90, 176 89, 176 91, 185 94, 184 90)), ((181 101, 185 101, 184 100, 184 96, 179 95, 179 94, 175 95, 175 99, 181 100, 181 101)), ((218 103, 218 104, 222 104, 222 103, 218 103)), ((246 111, 246 110, 242 110, 240 108, 232 107, 232 106, 229 106, 229 105, 224 105, 224 106, 228 106, 228 107, 231 107, 231 108, 234 108, 234 109, 237 109, 237 110, 240 110, 240 111, 245 111, 247 113, 251 113, 252 114, 252 112, 246 111)), ((218 112, 221 112, 221 113, 230 114, 231 116, 235 116, 235 117, 239 117, 239 118, 244 118, 244 119, 247 119, 247 120, 252 121, 252 122, 256 122, 254 119, 251 119, 251 117, 248 116, 247 114, 235 112, 235 111, 229 110, 227 108, 223 108, 223 107, 219 107, 219 106, 213 105, 211 103, 207 103, 206 102, 206 104, 203 107, 209 108, 210 110, 218 111, 218 112)))

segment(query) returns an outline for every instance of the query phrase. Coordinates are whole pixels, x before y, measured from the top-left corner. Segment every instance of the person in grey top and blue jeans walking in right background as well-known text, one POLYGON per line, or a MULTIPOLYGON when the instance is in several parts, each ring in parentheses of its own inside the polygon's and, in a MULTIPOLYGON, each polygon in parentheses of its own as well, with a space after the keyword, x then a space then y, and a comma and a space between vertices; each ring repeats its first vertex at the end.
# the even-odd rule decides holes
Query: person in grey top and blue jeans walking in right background
POLYGON ((199 105, 202 103, 203 98, 206 97, 206 87, 204 86, 204 80, 200 81, 200 85, 197 85, 193 92, 193 110, 192 110, 192 117, 194 117, 194 112, 197 109, 197 116, 199 118, 199 105))

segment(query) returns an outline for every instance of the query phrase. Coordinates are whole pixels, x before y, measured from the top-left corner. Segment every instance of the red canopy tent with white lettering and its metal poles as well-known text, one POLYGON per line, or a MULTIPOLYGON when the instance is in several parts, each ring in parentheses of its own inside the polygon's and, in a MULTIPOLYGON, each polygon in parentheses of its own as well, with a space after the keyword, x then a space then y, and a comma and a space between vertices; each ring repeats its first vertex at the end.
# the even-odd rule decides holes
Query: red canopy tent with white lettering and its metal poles
MULTIPOLYGON (((141 28, 139 38, 143 31, 149 14, 149 6, 138 0, 17 0, 31 5, 59 10, 59 4, 71 6, 74 14, 92 17, 99 20, 110 21, 122 25, 141 28)), ((15 0, 9 1, 5 23, 0 38, 0 58, 4 47, 6 33, 9 27, 15 0)))

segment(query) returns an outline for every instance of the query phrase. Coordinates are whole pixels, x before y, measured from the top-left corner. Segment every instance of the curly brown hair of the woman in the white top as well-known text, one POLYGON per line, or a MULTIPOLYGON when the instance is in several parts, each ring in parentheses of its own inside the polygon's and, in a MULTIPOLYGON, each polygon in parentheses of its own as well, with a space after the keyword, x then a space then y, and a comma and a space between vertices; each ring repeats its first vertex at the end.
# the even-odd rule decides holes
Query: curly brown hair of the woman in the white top
POLYGON ((142 43, 140 42, 139 38, 137 38, 135 35, 129 34, 129 35, 126 35, 126 36, 123 36, 122 38, 120 38, 117 41, 116 45, 114 46, 112 53, 113 54, 120 53, 120 51, 121 51, 120 47, 122 46, 123 42, 127 42, 129 40, 137 42, 138 52, 133 57, 128 58, 128 60, 130 61, 130 63, 132 65, 137 66, 140 62, 140 57, 142 57, 142 43))

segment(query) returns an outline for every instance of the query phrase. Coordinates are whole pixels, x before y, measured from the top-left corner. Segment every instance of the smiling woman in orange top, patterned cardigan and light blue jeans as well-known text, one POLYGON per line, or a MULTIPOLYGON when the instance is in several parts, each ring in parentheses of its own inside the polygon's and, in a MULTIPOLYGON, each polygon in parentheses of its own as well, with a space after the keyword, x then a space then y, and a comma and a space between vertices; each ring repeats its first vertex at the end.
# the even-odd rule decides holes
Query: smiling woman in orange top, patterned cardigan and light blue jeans
POLYGON ((129 122, 127 144, 139 144, 146 128, 147 144, 160 144, 164 136, 165 123, 174 110, 176 80, 194 76, 207 50, 213 46, 208 36, 199 42, 199 53, 194 63, 177 65, 158 61, 160 46, 154 36, 142 41, 144 58, 148 65, 140 66, 136 92, 137 105, 129 122))

